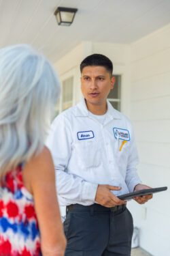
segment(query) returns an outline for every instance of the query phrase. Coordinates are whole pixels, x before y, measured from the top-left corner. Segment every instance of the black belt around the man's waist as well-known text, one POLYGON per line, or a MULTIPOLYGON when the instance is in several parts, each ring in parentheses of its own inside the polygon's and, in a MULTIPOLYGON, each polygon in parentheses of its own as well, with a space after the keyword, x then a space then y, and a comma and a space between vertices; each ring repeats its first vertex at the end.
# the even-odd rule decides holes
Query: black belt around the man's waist
POLYGON ((85 212, 117 212, 119 210, 125 210, 126 204, 121 204, 121 205, 116 205, 111 208, 107 208, 103 205, 99 205, 97 203, 92 204, 92 205, 80 205, 78 203, 67 205, 66 210, 67 212, 70 210, 76 210, 76 211, 81 211, 84 210, 85 212))

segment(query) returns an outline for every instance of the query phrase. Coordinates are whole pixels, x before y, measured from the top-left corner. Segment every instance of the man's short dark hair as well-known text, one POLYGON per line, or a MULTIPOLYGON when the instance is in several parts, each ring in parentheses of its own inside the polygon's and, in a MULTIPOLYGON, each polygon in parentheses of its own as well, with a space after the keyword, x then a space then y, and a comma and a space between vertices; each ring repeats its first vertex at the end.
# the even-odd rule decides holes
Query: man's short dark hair
POLYGON ((88 57, 86 57, 80 64, 80 72, 82 73, 82 70, 87 66, 105 67, 107 72, 109 72, 110 76, 112 76, 113 63, 105 55, 95 53, 95 54, 92 54, 92 55, 89 55, 88 57))

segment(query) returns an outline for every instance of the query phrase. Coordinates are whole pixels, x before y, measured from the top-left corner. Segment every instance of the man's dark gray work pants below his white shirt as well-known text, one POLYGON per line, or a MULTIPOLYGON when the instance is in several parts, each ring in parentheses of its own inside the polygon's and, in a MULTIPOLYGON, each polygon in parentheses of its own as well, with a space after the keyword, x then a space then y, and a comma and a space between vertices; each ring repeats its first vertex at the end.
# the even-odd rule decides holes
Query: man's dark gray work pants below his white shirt
POLYGON ((133 218, 126 206, 112 212, 98 204, 75 204, 64 229, 65 256, 131 256, 133 218))

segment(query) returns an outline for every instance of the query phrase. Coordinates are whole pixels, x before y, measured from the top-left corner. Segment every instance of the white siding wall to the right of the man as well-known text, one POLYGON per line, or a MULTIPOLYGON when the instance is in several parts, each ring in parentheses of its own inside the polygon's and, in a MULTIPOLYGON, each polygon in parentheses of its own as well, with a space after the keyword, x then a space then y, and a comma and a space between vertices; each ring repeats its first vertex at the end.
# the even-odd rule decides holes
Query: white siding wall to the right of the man
MULTIPOLYGON (((170 188, 170 25, 131 45, 130 118, 144 184, 170 188)), ((154 256, 170 255, 170 192, 146 205, 129 203, 140 245, 154 256)))

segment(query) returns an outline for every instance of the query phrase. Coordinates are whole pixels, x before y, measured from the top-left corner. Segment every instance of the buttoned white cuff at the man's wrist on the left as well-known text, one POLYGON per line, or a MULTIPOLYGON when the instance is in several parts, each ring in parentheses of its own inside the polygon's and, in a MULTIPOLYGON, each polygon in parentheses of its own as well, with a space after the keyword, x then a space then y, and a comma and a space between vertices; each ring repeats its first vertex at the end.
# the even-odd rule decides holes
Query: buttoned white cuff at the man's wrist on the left
POLYGON ((88 201, 88 203, 95 203, 95 197, 97 193, 98 184, 93 184, 90 182, 84 182, 82 189, 82 202, 88 201))

